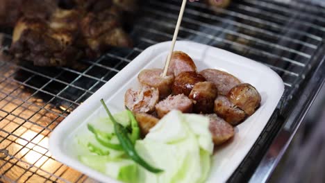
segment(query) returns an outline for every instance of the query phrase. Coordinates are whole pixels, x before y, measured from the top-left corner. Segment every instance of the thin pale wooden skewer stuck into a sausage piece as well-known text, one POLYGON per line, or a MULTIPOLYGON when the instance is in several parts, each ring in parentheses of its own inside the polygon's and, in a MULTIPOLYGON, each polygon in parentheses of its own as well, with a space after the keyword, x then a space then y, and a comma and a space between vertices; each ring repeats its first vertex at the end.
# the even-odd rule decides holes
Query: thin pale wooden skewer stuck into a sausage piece
POLYGON ((170 63, 170 60, 172 58, 175 43, 176 43, 176 40, 177 40, 178 30, 179 30, 179 27, 181 26, 181 22, 182 22, 182 19, 183 19, 183 14, 184 14, 184 10, 185 10, 185 6, 186 6, 187 1, 188 0, 183 0, 182 7, 181 7, 181 12, 179 12, 179 15, 178 15, 178 20, 177 20, 177 24, 176 24, 176 28, 175 28, 175 32, 174 32, 174 37, 173 37, 173 40, 172 40, 172 46, 170 48, 169 55, 167 56, 163 77, 165 77, 167 75, 169 63, 170 63))

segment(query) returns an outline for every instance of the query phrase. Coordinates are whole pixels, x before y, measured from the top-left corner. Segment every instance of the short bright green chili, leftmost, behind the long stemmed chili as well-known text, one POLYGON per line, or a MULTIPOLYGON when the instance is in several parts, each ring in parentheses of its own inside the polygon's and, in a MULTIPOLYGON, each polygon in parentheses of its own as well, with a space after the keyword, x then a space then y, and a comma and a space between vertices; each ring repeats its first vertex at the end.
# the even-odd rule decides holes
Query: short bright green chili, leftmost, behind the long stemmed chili
POLYGON ((92 132, 96 138, 96 140, 101 143, 101 145, 111 148, 114 150, 123 150, 122 146, 120 144, 116 143, 110 143, 109 140, 112 138, 112 135, 110 134, 103 134, 103 132, 99 132, 99 130, 96 130, 94 126, 88 124, 88 130, 92 132))

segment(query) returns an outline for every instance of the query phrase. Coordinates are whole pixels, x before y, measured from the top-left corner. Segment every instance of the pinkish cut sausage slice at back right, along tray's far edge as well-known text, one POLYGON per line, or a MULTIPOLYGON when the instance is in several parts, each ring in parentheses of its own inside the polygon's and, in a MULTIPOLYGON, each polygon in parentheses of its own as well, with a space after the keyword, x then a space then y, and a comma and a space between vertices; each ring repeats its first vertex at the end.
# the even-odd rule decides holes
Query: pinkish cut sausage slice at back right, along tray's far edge
POLYGON ((215 83, 219 94, 226 96, 228 92, 240 84, 240 80, 230 73, 219 71, 217 69, 205 69, 200 74, 206 78, 206 80, 215 83))

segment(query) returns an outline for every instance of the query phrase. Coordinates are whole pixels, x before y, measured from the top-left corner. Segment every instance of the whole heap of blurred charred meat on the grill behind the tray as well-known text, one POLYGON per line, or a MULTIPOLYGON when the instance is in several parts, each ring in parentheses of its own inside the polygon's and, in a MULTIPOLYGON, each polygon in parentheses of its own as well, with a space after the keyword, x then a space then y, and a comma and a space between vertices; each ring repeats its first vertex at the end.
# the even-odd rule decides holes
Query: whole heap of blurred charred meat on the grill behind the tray
POLYGON ((131 47, 123 15, 134 10, 135 0, 0 0, 0 25, 15 25, 10 48, 15 58, 72 66, 111 46, 131 47))

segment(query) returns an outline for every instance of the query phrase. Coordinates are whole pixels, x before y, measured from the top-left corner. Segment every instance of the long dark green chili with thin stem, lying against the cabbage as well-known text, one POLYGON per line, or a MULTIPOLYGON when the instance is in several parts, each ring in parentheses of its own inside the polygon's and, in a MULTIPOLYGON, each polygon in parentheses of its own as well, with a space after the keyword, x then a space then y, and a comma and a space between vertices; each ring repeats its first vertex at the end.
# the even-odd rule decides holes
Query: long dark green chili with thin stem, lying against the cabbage
POLYGON ((146 168, 147 171, 150 171, 152 173, 163 172, 163 170, 149 165, 147 162, 144 161, 144 159, 142 159, 142 157, 140 157, 140 155, 138 155, 138 153, 135 151, 134 144, 132 143, 131 139, 128 138, 128 132, 126 128, 124 128, 123 125, 117 123, 113 115, 110 113, 110 110, 108 110, 108 107, 103 101, 103 99, 101 99, 101 103, 103 104, 103 107, 105 108, 108 116, 110 117, 110 120, 113 122, 117 139, 119 139, 119 143, 121 143, 121 146, 124 149, 125 153, 128 155, 128 157, 133 159, 134 162, 137 162, 143 168, 146 168))

